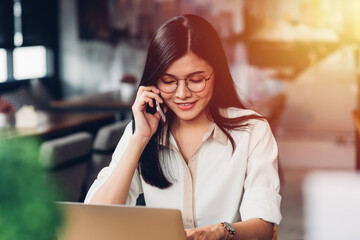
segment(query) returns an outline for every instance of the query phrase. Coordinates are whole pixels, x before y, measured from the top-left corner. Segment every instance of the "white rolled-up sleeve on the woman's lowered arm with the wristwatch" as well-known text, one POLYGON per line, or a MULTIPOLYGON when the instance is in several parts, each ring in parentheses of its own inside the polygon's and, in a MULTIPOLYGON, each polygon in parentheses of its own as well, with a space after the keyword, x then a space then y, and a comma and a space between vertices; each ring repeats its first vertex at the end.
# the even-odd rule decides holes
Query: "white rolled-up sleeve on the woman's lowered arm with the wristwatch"
POLYGON ((261 218, 279 224, 282 217, 278 148, 269 124, 266 121, 255 121, 250 136, 240 215, 243 221, 261 218))

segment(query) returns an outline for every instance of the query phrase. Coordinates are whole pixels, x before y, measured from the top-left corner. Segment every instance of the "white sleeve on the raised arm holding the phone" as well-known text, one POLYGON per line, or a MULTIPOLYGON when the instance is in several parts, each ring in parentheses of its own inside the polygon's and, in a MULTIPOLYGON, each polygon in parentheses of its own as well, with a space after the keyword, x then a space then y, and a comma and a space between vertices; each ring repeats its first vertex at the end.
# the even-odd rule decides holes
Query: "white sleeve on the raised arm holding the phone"
MULTIPOLYGON (((128 144, 129 144, 130 137, 132 135, 131 124, 132 124, 132 122, 130 122, 126 126, 124 134, 122 135, 118 145, 116 146, 115 152, 112 155, 112 160, 110 162, 110 165, 103 168, 99 172, 96 180, 91 185, 91 187, 86 195, 86 198, 84 201, 85 203, 89 203, 91 201, 91 199, 93 198, 96 191, 98 191, 101 188, 101 186, 109 179, 109 177, 114 172, 117 165, 119 164, 123 154, 125 153, 125 150, 126 150, 128 144)), ((142 193, 142 191, 143 190, 142 190, 142 186, 141 186, 140 174, 139 174, 139 171, 136 169, 134 176, 132 178, 132 181, 131 181, 129 194, 126 199, 126 205, 135 206, 136 199, 138 198, 139 194, 142 193)))

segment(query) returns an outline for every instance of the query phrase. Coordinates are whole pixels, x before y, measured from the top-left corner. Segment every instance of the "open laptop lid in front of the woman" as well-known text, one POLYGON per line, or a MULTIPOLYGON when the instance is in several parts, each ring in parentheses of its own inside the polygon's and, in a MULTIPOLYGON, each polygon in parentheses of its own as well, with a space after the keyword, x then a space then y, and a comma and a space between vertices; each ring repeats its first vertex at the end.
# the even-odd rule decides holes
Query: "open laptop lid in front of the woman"
POLYGON ((57 202, 65 213, 58 240, 185 240, 180 210, 57 202))

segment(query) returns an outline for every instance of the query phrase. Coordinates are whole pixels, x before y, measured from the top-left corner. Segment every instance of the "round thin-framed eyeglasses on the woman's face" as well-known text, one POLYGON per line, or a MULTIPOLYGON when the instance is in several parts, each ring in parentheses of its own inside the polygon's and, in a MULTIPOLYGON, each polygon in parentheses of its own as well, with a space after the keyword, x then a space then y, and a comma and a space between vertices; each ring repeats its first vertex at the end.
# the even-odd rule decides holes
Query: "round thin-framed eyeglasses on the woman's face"
POLYGON ((208 78, 205 78, 200 73, 194 73, 185 78, 178 78, 173 75, 164 74, 159 78, 157 87, 165 93, 172 93, 177 89, 179 81, 185 80, 186 87, 190 91, 201 92, 205 89, 206 82, 211 78, 213 73, 214 72, 212 72, 208 78))

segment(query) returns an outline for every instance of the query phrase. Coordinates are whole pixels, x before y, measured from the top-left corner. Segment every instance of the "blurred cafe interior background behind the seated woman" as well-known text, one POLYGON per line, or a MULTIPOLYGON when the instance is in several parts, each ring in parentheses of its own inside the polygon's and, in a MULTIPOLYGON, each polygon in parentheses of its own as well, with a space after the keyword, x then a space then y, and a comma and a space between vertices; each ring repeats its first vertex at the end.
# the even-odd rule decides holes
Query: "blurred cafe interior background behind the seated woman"
POLYGON ((37 203, 15 181, 26 151, 1 147, 29 139, 55 200, 82 202, 131 121, 152 34, 194 13, 276 138, 278 239, 360 239, 359 12, 359 0, 0 0, 0 182, 14 182, 0 206, 37 203))

